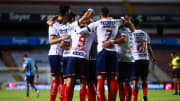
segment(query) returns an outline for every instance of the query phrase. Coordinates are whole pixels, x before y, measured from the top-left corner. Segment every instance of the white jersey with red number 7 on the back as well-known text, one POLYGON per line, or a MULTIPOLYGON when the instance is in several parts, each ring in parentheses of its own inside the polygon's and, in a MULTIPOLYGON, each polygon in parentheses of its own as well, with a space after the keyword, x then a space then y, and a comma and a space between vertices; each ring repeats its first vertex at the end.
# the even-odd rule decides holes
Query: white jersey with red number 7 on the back
MULTIPOLYGON (((107 40, 114 40, 118 34, 118 28, 123 24, 122 19, 101 19, 94 23, 88 25, 87 28, 81 29, 80 33, 86 32, 87 30, 90 32, 97 33, 97 40, 98 40, 98 52, 100 52, 103 47, 103 42, 107 40)), ((116 51, 115 45, 111 45, 105 48, 108 51, 116 51)))

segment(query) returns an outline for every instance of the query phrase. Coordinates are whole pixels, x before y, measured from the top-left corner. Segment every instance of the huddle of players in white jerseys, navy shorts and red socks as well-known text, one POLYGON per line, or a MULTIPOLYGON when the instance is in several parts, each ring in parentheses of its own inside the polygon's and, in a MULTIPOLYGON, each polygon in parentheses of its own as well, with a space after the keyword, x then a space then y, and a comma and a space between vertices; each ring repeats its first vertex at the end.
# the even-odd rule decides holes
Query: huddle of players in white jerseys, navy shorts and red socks
POLYGON ((93 15, 94 10, 88 9, 76 20, 69 6, 61 6, 59 15, 47 21, 50 101, 55 101, 57 92, 60 101, 72 101, 76 79, 80 79, 80 101, 86 94, 88 101, 106 101, 105 82, 108 101, 116 101, 118 89, 120 101, 131 101, 131 96, 137 101, 140 78, 147 101, 149 57, 155 61, 148 34, 139 29, 138 20, 114 19, 107 8, 101 9, 96 22, 93 15))

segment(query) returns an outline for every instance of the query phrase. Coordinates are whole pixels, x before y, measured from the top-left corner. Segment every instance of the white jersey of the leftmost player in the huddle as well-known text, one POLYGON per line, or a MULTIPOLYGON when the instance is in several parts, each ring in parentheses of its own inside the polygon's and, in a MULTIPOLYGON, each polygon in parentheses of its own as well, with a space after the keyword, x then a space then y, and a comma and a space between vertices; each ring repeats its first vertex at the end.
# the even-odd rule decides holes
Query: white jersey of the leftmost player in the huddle
MULTIPOLYGON (((56 38, 60 38, 64 35, 64 30, 66 31, 66 26, 61 24, 59 21, 54 21, 54 23, 49 26, 49 40, 51 36, 56 36, 56 38)), ((50 45, 50 50, 48 55, 62 55, 63 49, 59 46, 60 43, 50 45)))

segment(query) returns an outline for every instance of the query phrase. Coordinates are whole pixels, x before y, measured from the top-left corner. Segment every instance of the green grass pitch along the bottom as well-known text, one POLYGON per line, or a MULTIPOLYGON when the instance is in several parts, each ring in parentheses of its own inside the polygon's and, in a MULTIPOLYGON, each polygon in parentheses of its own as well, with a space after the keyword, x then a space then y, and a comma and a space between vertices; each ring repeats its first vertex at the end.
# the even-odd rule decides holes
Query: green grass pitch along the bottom
MULTIPOLYGON (((172 90, 148 90, 148 101, 180 101, 180 95, 172 95, 173 93, 172 90)), ((0 90, 0 101, 49 101, 49 90, 40 90, 39 98, 35 96, 34 90, 30 90, 29 99, 24 99, 24 96, 25 90, 0 90)), ((59 101, 58 97, 56 101, 59 101)), ((73 101, 79 101, 79 91, 74 92, 73 101)), ((117 101, 119 101, 119 96, 117 96, 117 101)), ((139 91, 138 101, 143 101, 142 90, 139 91)))

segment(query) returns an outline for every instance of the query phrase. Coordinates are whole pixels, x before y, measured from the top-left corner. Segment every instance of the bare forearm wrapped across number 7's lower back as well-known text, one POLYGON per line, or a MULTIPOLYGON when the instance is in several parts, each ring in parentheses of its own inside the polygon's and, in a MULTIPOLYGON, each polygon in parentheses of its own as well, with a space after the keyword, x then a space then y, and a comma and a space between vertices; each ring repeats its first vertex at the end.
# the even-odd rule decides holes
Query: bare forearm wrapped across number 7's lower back
POLYGON ((113 44, 121 44, 121 43, 124 43, 126 40, 126 37, 122 36, 120 38, 117 38, 115 40, 107 40, 107 41, 104 41, 103 42, 103 48, 106 48, 110 45, 113 45, 113 44))

